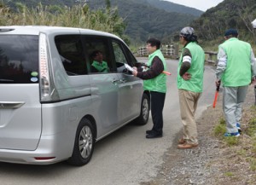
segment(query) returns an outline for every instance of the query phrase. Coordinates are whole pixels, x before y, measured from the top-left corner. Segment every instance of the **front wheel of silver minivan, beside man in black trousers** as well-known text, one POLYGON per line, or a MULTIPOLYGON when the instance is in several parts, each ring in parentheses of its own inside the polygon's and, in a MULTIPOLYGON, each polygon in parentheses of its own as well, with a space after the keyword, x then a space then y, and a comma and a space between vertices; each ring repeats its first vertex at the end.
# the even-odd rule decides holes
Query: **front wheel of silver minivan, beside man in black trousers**
POLYGON ((141 114, 137 119, 135 119, 135 123, 139 125, 144 125, 148 123, 148 116, 149 116, 149 97, 147 94, 143 94, 143 100, 141 105, 141 114))

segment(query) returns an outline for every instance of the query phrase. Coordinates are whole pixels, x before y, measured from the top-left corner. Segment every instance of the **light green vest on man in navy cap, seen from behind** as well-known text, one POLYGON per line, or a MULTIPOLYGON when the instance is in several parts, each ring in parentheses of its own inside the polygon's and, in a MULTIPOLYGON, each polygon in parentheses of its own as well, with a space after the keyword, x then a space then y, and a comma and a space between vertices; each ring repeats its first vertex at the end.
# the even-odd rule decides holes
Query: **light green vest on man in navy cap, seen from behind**
POLYGON ((251 45, 238 38, 230 38, 219 47, 227 55, 227 66, 221 77, 222 84, 229 87, 244 86, 251 83, 251 45))

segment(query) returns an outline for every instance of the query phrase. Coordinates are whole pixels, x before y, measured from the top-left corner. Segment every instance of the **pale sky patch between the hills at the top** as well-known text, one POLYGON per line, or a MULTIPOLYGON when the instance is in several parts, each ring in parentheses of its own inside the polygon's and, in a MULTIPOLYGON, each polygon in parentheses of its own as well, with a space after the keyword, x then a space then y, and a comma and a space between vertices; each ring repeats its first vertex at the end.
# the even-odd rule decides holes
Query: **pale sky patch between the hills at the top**
POLYGON ((224 0, 166 0, 172 3, 181 4, 187 7, 200 9, 202 11, 207 11, 218 5, 218 3, 223 2, 224 0))

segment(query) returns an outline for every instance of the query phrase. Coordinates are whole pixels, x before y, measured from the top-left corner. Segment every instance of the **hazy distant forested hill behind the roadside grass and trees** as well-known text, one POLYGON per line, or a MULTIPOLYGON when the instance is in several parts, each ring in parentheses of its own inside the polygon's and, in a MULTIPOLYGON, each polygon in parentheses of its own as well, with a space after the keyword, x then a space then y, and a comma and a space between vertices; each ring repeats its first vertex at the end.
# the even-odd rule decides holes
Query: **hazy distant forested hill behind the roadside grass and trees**
MULTIPOLYGON (((27 7, 35 6, 38 0, 5 1, 11 7, 20 2, 27 7)), ((163 42, 172 39, 172 33, 188 26, 203 12, 162 0, 110 0, 112 7, 117 7, 119 15, 125 20, 125 34, 131 42, 144 43, 149 37, 160 38, 163 42), (184 14, 185 12, 185 14, 184 14)), ((44 0, 43 5, 57 4, 73 6, 84 0, 44 0)), ((105 9, 106 0, 89 0, 90 9, 105 9)))

